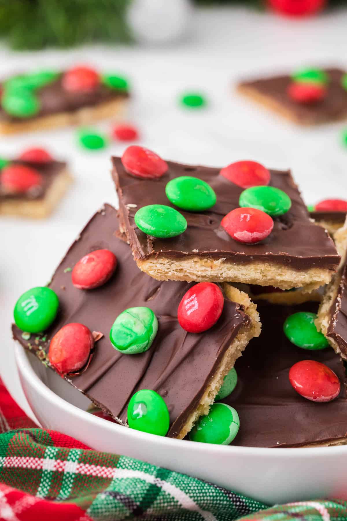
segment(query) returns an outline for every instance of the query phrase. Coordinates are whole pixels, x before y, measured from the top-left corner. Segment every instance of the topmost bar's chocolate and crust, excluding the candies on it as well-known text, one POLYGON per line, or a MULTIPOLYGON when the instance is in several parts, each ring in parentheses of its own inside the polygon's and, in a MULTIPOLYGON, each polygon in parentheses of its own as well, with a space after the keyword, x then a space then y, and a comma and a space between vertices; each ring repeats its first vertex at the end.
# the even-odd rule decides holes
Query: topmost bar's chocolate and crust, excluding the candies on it
POLYGON ((119 196, 121 229, 131 244, 140 269, 158 280, 233 281, 281 289, 317 288, 329 282, 339 263, 328 234, 309 218, 289 171, 271 170, 269 185, 291 199, 290 210, 274 217, 272 233, 257 244, 235 241, 222 228, 222 218, 239 206, 243 189, 220 175, 219 168, 168 162, 159 179, 140 179, 112 158, 112 177, 119 196), (216 193, 216 204, 205 212, 180 210, 187 220, 184 233, 170 239, 146 235, 135 225, 137 210, 150 204, 174 208, 166 184, 179 176, 194 176, 216 193))

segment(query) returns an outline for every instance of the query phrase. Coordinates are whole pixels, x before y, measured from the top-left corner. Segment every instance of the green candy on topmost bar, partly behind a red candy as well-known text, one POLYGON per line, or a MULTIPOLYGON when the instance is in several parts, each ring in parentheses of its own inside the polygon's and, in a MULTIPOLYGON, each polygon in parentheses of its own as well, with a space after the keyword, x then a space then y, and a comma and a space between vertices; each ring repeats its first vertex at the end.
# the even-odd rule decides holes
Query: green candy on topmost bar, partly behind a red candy
POLYGON ((286 192, 279 188, 251 187, 243 190, 239 205, 246 208, 257 208, 274 217, 288 212, 291 207, 291 200, 286 192))

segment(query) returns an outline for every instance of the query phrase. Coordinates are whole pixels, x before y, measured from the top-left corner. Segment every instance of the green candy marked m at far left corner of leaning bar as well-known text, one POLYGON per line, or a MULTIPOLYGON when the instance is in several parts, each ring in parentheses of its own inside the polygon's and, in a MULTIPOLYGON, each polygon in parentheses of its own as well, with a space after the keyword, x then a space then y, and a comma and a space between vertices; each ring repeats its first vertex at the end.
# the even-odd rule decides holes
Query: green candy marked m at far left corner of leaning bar
POLYGON ((40 333, 52 324, 58 306, 58 296, 50 288, 38 287, 25 291, 15 305, 16 326, 22 331, 40 333))

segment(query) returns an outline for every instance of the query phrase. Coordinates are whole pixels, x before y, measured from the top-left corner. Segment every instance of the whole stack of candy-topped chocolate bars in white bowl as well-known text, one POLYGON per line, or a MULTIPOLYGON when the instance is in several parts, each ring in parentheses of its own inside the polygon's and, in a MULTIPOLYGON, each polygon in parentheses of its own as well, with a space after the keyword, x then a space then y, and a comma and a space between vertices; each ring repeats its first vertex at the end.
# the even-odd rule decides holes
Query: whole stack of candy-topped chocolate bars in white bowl
POLYGON ((105 204, 48 286, 19 297, 14 338, 124 428, 345 443, 347 229, 337 251, 291 173, 251 161, 182 165, 130 146, 112 177, 118 212, 105 204))

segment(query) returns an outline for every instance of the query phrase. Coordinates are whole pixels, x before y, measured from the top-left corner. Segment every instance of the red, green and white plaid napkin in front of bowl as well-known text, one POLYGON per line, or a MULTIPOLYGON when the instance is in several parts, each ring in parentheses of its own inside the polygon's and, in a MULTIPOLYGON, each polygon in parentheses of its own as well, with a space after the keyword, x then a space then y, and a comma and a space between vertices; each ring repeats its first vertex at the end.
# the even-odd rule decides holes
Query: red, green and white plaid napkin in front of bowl
POLYGON ((212 483, 38 429, 1 380, 0 432, 1 520, 347 520, 344 501, 269 508, 212 483))

